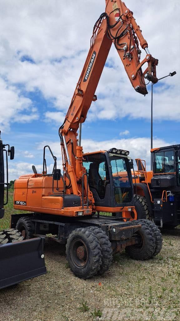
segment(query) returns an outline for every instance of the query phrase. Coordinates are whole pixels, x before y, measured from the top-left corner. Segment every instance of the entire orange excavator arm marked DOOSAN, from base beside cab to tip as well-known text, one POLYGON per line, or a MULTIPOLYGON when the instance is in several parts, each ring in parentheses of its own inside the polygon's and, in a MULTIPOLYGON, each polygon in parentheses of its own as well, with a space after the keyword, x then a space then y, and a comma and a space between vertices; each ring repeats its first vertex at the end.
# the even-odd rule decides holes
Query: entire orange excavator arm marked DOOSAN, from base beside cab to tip
POLYGON ((82 192, 85 196, 88 194, 89 204, 93 204, 94 200, 89 189, 88 193, 87 190, 82 191, 82 185, 87 186, 87 176, 86 169, 83 167, 82 147, 78 146, 77 131, 79 124, 85 121, 92 101, 97 100, 95 90, 112 43, 114 43, 129 80, 137 92, 143 95, 148 93, 145 79, 153 83, 158 81, 156 77, 158 60, 151 56, 148 43, 135 22, 133 12, 121 0, 105 0, 105 2, 105 12, 101 14, 94 25, 86 62, 64 123, 59 129, 66 193, 79 195, 81 199, 84 197, 82 192), (146 51, 146 57, 142 62, 140 62, 139 42, 146 51), (147 63, 147 68, 143 73, 142 66, 145 63, 147 63))

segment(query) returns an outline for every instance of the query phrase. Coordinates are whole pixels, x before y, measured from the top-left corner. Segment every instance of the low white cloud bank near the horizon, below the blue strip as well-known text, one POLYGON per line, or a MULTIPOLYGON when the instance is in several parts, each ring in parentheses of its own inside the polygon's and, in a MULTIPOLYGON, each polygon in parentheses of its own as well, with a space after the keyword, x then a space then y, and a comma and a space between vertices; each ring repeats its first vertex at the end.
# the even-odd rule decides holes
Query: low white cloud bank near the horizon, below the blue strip
MULTIPOLYGON (((176 142, 167 142, 163 139, 154 138, 153 147, 163 147, 176 144, 176 142)), ((52 149, 53 154, 57 157, 57 168, 62 169, 62 158, 61 158, 61 145, 60 141, 43 141, 37 145, 36 152, 43 152, 44 146, 49 145, 52 149)), ((92 139, 82 139, 83 152, 95 152, 100 150, 109 150, 110 148, 125 149, 130 151, 130 156, 135 158, 141 158, 146 160, 146 168, 150 170, 150 147, 151 140, 147 137, 139 138, 121 138, 112 139, 106 141, 94 141, 92 139)), ((25 152, 28 155, 28 152, 25 152)), ((29 153, 31 155, 31 153, 29 153)), ((50 153, 46 154, 47 171, 52 173, 53 163, 50 153)), ((135 163, 135 162, 134 162, 135 163)), ((35 165, 37 172, 42 173, 43 164, 35 161, 33 164, 30 162, 15 162, 14 160, 9 163, 9 180, 17 179, 20 175, 32 174, 32 165, 35 165)))

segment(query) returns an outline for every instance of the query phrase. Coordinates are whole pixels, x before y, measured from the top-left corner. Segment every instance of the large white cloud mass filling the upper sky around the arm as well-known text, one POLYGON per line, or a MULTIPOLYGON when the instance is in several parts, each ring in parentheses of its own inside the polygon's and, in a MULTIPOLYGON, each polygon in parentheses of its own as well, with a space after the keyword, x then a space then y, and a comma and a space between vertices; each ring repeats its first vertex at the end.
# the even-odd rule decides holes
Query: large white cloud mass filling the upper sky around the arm
MULTIPOLYGON (((158 76, 174 70, 180 72, 180 47, 177 41, 179 1, 174 0, 169 5, 168 0, 160 0, 155 7, 152 0, 139 0, 138 6, 134 0, 128 0, 127 6, 134 11, 136 21, 149 43, 150 52, 159 58, 158 76), (173 24, 169 28, 167 17, 172 16, 173 24), (153 17, 152 21, 149 17, 153 17)), ((70 0, 65 4, 58 0, 7 0, 2 3, 0 68, 7 84, 4 119, 1 120, 4 126, 8 127, 13 119, 18 121, 19 118, 19 121, 27 122, 38 117, 37 112, 30 112, 30 109, 28 115, 22 113, 21 117, 14 117, 19 109, 24 110, 24 106, 27 108, 31 103, 20 95, 20 84, 27 91, 40 90, 45 99, 51 100, 56 109, 47 110, 45 120, 62 120, 86 59, 94 22, 104 8, 104 0, 70 0), (25 55, 35 63, 21 61, 25 55), (12 104, 7 100, 7 97, 11 99, 12 93, 15 96, 12 99, 15 105, 13 111, 12 104)), ((142 58, 144 55, 143 53, 142 58)), ((96 91, 100 98, 92 104, 88 120, 92 121, 94 117, 149 119, 151 97, 149 95, 144 98, 134 91, 114 46, 110 50, 108 61, 112 68, 105 67, 103 70, 96 91)), ((178 75, 161 81, 161 84, 164 83, 162 87, 154 86, 155 119, 180 121, 177 77, 178 75)))

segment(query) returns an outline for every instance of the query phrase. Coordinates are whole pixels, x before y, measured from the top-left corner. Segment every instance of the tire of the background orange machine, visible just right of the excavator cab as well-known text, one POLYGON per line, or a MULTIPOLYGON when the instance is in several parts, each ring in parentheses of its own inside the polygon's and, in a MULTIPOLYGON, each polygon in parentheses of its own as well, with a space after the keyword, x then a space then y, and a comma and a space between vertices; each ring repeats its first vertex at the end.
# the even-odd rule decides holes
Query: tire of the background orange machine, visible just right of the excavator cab
POLYGON ((134 202, 135 210, 137 212, 137 219, 145 219, 152 221, 146 198, 141 195, 134 195, 134 202))

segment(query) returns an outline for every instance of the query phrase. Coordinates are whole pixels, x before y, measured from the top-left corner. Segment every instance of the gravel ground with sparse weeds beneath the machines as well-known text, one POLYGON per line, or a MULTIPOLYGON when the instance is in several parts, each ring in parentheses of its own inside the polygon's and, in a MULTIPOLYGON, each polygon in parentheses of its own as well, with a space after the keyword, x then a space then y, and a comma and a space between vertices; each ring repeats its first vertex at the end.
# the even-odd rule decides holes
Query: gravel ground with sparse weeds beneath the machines
POLYGON ((0 320, 96 320, 94 309, 103 321, 180 320, 180 229, 163 239, 153 260, 133 261, 123 252, 103 277, 86 281, 70 271, 65 247, 51 242, 47 274, 0 290, 0 320))

